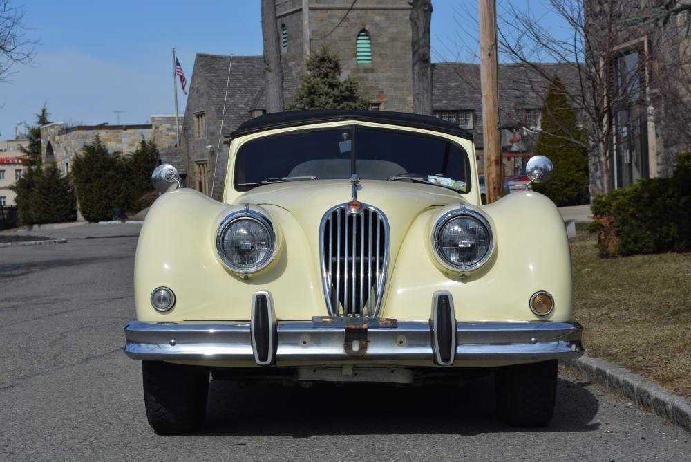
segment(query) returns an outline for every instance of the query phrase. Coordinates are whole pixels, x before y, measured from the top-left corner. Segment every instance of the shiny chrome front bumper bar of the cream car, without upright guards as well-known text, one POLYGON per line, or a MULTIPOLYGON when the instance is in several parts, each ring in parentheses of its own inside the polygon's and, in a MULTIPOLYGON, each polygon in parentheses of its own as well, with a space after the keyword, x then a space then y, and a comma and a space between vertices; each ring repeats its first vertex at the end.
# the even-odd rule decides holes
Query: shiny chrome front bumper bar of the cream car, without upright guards
MULTIPOLYGON (((276 363, 353 359, 343 349, 344 324, 279 321, 276 363)), ((583 327, 577 322, 458 322, 455 360, 548 360, 578 358, 583 327)), ((138 360, 247 361, 254 363, 249 322, 181 322, 125 326, 124 351, 138 360)), ((417 360, 432 366, 428 321, 399 321, 386 329, 370 326, 361 360, 417 360)), ((278 364, 280 365, 280 364, 278 364)))

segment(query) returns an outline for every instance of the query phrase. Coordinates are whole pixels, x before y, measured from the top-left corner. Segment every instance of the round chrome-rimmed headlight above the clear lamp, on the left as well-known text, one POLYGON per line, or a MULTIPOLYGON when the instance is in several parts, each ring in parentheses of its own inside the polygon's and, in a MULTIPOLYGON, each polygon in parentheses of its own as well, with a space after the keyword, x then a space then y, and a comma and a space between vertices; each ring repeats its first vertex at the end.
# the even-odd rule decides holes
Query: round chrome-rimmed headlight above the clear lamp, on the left
POLYGON ((275 245, 276 234, 271 221, 249 210, 227 216, 216 234, 216 250, 223 264, 244 274, 267 266, 275 245))

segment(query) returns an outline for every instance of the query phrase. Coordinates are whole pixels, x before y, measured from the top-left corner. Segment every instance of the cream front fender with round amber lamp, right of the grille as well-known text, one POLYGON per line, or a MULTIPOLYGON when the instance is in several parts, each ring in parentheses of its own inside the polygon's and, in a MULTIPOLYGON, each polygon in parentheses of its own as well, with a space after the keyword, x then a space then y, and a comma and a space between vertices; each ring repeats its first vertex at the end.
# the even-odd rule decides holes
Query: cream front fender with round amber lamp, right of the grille
POLYGON ((448 290, 459 321, 571 320, 571 256, 557 207, 542 194, 521 191, 481 210, 493 223, 496 248, 465 278, 439 270, 430 250, 420 252, 435 211, 419 216, 392 269, 384 316, 415 319, 420 306, 430 306, 430 293, 448 290), (546 317, 529 308, 539 290, 554 297, 555 309, 546 317))

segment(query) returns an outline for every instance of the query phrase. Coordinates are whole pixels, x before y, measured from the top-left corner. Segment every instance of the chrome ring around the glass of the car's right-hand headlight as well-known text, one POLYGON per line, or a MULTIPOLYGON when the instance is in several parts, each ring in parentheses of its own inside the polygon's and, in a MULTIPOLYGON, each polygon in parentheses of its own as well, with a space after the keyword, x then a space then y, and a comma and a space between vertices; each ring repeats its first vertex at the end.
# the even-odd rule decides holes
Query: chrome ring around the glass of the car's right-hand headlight
POLYGON ((451 272, 466 273, 477 270, 486 264, 486 262, 491 258, 494 252, 494 247, 494 232, 489 220, 487 220, 480 212, 467 208, 465 205, 462 205, 459 209, 451 210, 440 216, 433 227, 432 248, 435 259, 443 268, 451 272), (444 246, 442 246, 441 243, 442 233, 446 227, 456 219, 468 219, 474 221, 477 225, 480 225, 482 228, 484 228, 487 234, 486 250, 482 252, 482 255, 478 255, 477 258, 473 259, 468 264, 459 264, 458 262, 453 261, 453 259, 448 257, 444 251, 444 246))

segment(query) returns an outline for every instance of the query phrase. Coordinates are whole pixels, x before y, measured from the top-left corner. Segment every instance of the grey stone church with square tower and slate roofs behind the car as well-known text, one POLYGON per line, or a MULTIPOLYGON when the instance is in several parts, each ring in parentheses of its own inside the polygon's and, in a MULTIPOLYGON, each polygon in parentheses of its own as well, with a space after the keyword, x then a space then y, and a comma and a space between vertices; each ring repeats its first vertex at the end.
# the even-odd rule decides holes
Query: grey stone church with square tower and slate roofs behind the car
MULTIPOLYGON (((303 0, 276 0, 286 107, 295 94, 305 57, 328 44, 339 54, 341 77, 354 77, 371 110, 413 111, 410 2, 309 0, 307 4, 303 11, 303 0)), ((242 122, 265 112, 263 66, 262 56, 196 55, 180 136, 181 163, 173 163, 187 172, 188 187, 217 200, 223 196, 230 134, 242 122)), ((573 66, 545 66, 550 73, 564 73, 562 80, 576 78, 573 66)), ((433 114, 475 135, 482 171, 480 66, 438 63, 433 64, 432 75, 433 114)), ((518 174, 533 154, 548 87, 549 81, 537 79, 525 68, 500 66, 507 175, 518 174)))

